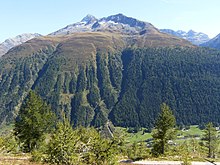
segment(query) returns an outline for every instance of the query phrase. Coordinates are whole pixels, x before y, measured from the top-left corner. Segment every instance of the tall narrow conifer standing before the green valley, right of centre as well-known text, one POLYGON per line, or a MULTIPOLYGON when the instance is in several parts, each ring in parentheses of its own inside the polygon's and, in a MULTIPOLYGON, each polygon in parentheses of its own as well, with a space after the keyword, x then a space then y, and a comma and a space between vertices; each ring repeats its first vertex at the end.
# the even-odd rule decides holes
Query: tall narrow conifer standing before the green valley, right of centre
POLYGON ((175 137, 175 125, 175 116, 170 107, 163 103, 152 135, 154 139, 152 153, 154 155, 164 154, 168 140, 172 140, 175 137))

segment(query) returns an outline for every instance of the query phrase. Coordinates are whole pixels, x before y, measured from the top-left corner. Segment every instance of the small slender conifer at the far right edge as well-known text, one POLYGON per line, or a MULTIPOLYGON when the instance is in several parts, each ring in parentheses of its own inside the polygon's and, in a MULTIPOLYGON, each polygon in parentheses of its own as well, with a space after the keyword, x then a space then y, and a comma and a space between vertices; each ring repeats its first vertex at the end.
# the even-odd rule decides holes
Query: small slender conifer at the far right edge
POLYGON ((215 158, 218 147, 218 132, 212 123, 208 123, 205 126, 204 132, 203 140, 206 142, 206 147, 208 148, 208 157, 215 158))

